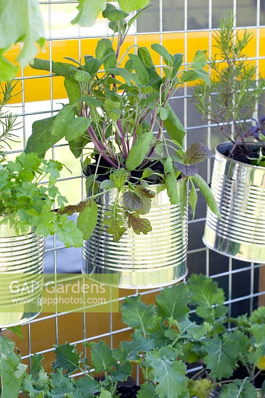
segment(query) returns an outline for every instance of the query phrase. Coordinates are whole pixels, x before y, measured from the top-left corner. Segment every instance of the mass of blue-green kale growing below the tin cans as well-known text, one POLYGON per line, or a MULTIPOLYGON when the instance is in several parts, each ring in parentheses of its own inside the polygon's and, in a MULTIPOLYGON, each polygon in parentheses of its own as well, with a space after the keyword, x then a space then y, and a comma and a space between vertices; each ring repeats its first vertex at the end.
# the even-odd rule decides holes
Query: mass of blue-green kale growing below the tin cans
MULTIPOLYGON (((137 398, 206 398, 217 386, 222 398, 255 398, 256 380, 265 370, 265 307, 251 316, 228 318, 224 301, 216 282, 195 274, 186 285, 165 288, 155 304, 144 303, 140 296, 128 297, 121 314, 133 329, 130 341, 121 341, 113 350, 104 341, 85 343, 89 361, 69 343, 56 345, 49 377, 41 366, 43 356, 34 355, 31 373, 16 384, 6 383, 6 388, 18 389, 20 383, 30 398, 117 397, 120 382, 126 382, 133 366, 139 365, 144 381, 137 398), (228 331, 228 322, 237 329, 228 331), (186 371, 190 364, 201 366, 192 377, 186 371), (81 371, 85 375, 75 380, 74 374, 81 371), (241 377, 236 376, 239 371, 241 377), (102 377, 95 380, 93 372, 102 377)), ((6 346, 7 339, 0 339, 6 346)))

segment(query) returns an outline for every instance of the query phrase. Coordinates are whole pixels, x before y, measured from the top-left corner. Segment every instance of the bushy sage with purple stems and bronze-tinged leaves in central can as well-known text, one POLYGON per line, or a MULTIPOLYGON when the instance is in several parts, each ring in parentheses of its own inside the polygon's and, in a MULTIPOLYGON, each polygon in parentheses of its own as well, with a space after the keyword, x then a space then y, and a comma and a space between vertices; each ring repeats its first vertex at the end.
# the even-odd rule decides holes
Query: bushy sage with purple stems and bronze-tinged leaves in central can
MULTIPOLYGON (((126 20, 128 13, 108 3, 102 15, 110 21, 112 39, 99 40, 95 57, 86 55, 85 65, 68 57, 72 63, 52 63, 53 73, 65 78, 69 104, 56 116, 34 122, 26 146, 26 152, 43 156, 65 137, 76 157, 90 151, 83 163, 87 190, 91 188, 89 199, 65 210, 80 212, 79 227, 84 227, 87 238, 96 223, 94 199, 113 188, 117 196, 105 223, 114 241, 127 227, 137 234, 151 230, 149 220, 141 215, 149 212, 155 196, 152 184, 161 183, 161 190, 167 189, 171 203, 177 204, 186 200, 186 193, 185 198, 179 198, 177 179, 189 179, 193 211, 197 201, 195 183, 211 209, 220 215, 209 187, 197 174, 196 164, 211 153, 202 143, 183 149, 185 130, 169 103, 185 82, 203 79, 209 83, 203 69, 206 51, 197 51, 192 63, 184 67, 182 54, 172 55, 162 45, 152 44, 153 53, 163 59, 164 77, 157 73, 146 47, 132 45, 121 55, 128 30, 143 11, 126 20), (95 163, 88 165, 91 157, 95 163), (97 181, 102 182, 99 192, 97 181), (123 200, 118 200, 121 195, 123 200)), ((32 67, 50 70, 49 61, 41 59, 35 59, 32 67)))

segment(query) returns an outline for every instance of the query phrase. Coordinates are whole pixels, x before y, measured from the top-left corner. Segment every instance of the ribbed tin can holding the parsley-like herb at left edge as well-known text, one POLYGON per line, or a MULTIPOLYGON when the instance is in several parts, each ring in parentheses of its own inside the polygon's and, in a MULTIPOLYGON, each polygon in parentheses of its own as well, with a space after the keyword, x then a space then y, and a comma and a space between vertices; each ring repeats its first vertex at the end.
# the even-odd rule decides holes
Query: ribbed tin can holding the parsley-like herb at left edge
POLYGON ((40 313, 43 258, 42 236, 33 231, 17 236, 0 223, 0 328, 27 323, 40 313))

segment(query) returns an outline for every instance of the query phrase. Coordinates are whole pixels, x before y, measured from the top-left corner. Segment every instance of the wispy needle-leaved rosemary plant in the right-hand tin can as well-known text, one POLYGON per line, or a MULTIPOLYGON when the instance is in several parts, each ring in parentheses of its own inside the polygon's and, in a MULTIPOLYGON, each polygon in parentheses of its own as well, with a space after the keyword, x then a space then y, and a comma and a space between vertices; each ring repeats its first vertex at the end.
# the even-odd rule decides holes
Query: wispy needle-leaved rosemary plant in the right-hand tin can
POLYGON ((246 139, 255 138, 263 148, 265 145, 265 128, 262 126, 265 117, 256 120, 254 116, 265 80, 259 77, 256 81, 257 67, 246 59, 244 53, 251 39, 252 34, 247 30, 243 35, 237 31, 233 15, 228 20, 221 19, 220 29, 214 35, 216 52, 214 58, 208 60, 210 84, 201 80, 195 85, 193 95, 203 117, 217 124, 223 135, 234 144, 230 157, 237 149, 246 152, 246 159, 246 139))

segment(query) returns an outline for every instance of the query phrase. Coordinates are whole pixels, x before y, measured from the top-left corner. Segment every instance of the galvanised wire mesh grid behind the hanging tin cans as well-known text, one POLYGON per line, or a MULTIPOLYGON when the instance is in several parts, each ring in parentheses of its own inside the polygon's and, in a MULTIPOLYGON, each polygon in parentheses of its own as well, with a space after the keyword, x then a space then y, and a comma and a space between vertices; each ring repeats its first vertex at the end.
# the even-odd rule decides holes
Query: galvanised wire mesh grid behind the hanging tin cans
MULTIPOLYGON (((46 24, 46 53, 41 58, 62 61, 70 56, 82 60, 85 54, 94 52, 98 38, 111 35, 105 19, 99 18, 92 28, 81 28, 69 22, 76 13, 75 0, 39 1, 46 24)), ((188 64, 197 49, 207 49, 213 54, 213 30, 218 27, 221 16, 235 16, 237 29, 245 27, 253 32, 254 38, 248 49, 248 58, 256 63, 257 79, 259 73, 265 75, 265 1, 264 0, 153 0, 153 6, 145 11, 131 28, 125 47, 130 44, 146 45, 153 42, 165 45, 169 51, 183 52, 184 62, 188 64)), ((21 43, 22 46, 22 43, 21 43)), ((10 54, 14 57, 16 49, 10 54)), ((162 66, 162 59, 156 65, 162 66)), ((61 77, 52 76, 52 72, 35 71, 30 68, 21 70, 16 78, 21 85, 22 93, 17 97, 19 106, 16 111, 22 123, 18 142, 12 146, 9 157, 16 156, 23 150, 31 132, 31 124, 39 118, 49 117, 61 108, 66 93, 61 77)), ((208 144, 211 150, 222 141, 221 134, 214 124, 203 123, 190 100, 190 87, 184 86, 171 104, 187 130, 186 145, 194 141, 208 144)), ((263 101, 264 103, 264 98, 263 101)), ((260 105, 261 113, 265 106, 260 105)), ((13 109, 12 109, 13 110, 13 109)), ((81 199, 83 179, 78 160, 70 153, 67 143, 60 142, 47 153, 65 163, 73 172, 67 171, 59 180, 59 188, 69 202, 81 199)), ((201 164, 200 164, 201 165, 201 164)), ((200 174, 208 183, 211 180, 212 160, 200 166, 200 174)), ((258 303, 264 301, 265 268, 261 264, 245 263, 224 257, 209 251, 202 243, 206 205, 198 193, 198 205, 195 218, 189 219, 189 247, 187 266, 189 274, 202 272, 215 279, 225 290, 229 315, 251 312, 258 303)), ((46 239, 45 272, 46 273, 79 273, 81 272, 81 249, 66 249, 55 237, 46 239)), ((140 293, 144 300, 154 300, 157 290, 121 291, 120 302, 126 295, 140 293)), ((6 331, 5 333, 9 333, 6 331)), ((36 352, 45 355, 44 365, 49 367, 53 358, 53 344, 66 340, 72 344, 84 341, 105 339, 111 347, 117 346, 121 339, 130 335, 130 328, 125 327, 120 315, 96 313, 42 313, 38 318, 23 326, 25 341, 19 342, 22 359, 30 366, 30 358, 36 352)), ((12 335, 13 337, 13 335, 12 335)), ((76 375, 75 375, 76 376, 76 375)), ((139 373, 136 374, 139 379, 139 373)))

